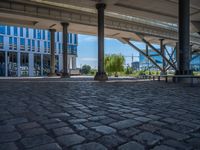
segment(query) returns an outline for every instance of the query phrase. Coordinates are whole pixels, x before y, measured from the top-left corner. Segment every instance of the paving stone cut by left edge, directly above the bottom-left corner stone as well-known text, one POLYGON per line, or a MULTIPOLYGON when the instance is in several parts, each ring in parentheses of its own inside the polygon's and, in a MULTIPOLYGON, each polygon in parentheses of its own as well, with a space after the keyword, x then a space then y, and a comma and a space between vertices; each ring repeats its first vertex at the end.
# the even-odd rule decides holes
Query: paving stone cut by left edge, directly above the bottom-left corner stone
POLYGON ((14 142, 21 138, 21 135, 18 132, 11 133, 1 133, 0 134, 0 143, 5 142, 14 142))

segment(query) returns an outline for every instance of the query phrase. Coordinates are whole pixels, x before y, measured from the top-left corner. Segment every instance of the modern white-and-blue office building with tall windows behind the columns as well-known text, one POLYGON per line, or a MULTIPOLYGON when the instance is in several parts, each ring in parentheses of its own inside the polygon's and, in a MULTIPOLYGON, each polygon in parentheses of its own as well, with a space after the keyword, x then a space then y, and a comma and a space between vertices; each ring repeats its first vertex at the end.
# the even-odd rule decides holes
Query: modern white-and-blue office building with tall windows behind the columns
MULTIPOLYGON (((76 69, 77 34, 68 34, 68 67, 76 69)), ((56 72, 63 68, 62 33, 55 33, 56 72)), ((50 32, 0 25, 0 76, 45 76, 50 71, 50 32)))

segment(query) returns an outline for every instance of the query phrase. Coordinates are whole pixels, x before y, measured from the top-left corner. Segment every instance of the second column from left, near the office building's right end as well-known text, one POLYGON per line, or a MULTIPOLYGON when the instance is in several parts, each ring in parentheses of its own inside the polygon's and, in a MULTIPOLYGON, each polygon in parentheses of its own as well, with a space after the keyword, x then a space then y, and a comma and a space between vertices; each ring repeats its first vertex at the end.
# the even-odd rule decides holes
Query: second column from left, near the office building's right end
POLYGON ((63 73, 62 77, 69 78, 68 68, 68 26, 69 23, 62 23, 63 26, 63 73))

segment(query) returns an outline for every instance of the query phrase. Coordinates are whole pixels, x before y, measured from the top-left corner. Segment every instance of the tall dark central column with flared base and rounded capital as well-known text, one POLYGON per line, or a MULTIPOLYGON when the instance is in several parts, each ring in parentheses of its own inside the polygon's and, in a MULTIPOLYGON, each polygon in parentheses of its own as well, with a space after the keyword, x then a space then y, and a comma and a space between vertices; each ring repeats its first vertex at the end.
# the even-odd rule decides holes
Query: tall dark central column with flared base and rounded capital
POLYGON ((104 70, 104 9, 106 5, 99 3, 96 8, 98 10, 98 72, 94 80, 105 81, 108 80, 104 70))

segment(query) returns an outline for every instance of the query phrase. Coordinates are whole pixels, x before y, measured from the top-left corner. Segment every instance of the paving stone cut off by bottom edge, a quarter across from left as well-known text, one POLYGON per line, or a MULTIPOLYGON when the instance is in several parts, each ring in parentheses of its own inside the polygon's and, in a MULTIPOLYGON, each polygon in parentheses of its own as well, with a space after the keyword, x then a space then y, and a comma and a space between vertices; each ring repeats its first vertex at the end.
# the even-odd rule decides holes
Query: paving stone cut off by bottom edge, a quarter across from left
POLYGON ((31 148, 30 150, 62 150, 62 148, 57 143, 50 143, 31 148))

